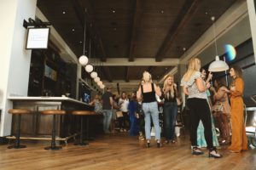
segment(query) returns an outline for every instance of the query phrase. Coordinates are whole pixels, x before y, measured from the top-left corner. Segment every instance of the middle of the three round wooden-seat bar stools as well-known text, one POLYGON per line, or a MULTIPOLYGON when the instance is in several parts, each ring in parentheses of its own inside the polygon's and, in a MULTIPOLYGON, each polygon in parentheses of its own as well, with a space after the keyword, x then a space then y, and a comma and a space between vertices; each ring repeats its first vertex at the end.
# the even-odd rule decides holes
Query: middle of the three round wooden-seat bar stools
POLYGON ((55 116, 56 115, 65 115, 66 111, 62 110, 45 110, 41 111, 43 115, 52 115, 53 121, 52 121, 52 134, 51 134, 51 144, 48 147, 45 147, 44 150, 61 150, 61 146, 56 146, 56 127, 55 127, 55 116))

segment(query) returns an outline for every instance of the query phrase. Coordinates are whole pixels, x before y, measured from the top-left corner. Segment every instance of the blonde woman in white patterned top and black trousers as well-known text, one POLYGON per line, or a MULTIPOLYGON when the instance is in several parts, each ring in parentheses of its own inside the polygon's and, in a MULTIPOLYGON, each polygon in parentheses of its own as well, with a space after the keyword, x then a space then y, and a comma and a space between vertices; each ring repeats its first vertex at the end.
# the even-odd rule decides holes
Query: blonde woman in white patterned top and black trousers
POLYGON ((209 157, 222 157, 217 153, 212 144, 212 122, 211 112, 207 103, 207 89, 210 88, 209 82, 204 82, 201 78, 201 61, 198 58, 189 59, 188 71, 184 74, 181 86, 184 94, 189 95, 187 105, 189 107, 190 118, 190 140, 192 144, 192 155, 201 155, 203 152, 197 145, 197 127, 201 120, 205 127, 205 138, 207 140, 207 149, 209 157))

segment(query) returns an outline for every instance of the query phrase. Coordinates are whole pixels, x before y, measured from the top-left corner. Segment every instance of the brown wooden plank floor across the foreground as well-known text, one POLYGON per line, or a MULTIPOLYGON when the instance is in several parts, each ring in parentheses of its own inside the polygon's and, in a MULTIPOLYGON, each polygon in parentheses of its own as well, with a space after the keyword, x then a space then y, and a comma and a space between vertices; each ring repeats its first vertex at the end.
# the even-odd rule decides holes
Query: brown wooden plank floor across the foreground
MULTIPOLYGON (((23 142, 24 143, 24 142, 23 142)), ((62 150, 44 150, 45 144, 27 144, 26 149, 9 150, 0 145, 0 169, 256 169, 256 149, 243 153, 219 150, 224 157, 192 156, 189 137, 179 138, 177 144, 157 148, 152 142, 146 148, 137 137, 125 133, 109 134, 90 141, 85 147, 69 143, 62 150)))

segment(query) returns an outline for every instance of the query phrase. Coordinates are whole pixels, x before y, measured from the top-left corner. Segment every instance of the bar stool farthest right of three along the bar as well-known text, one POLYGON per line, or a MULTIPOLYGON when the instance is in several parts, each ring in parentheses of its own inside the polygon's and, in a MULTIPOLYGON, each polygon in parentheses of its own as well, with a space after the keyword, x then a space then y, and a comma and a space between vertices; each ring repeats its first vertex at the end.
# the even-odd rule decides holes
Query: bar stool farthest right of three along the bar
POLYGON ((72 112, 73 115, 76 116, 81 116, 81 135, 80 135, 80 141, 79 141, 79 145, 87 145, 89 143, 85 143, 84 142, 84 116, 86 116, 86 139, 89 139, 89 117, 88 116, 92 116, 95 115, 96 113, 94 111, 73 111, 72 112))

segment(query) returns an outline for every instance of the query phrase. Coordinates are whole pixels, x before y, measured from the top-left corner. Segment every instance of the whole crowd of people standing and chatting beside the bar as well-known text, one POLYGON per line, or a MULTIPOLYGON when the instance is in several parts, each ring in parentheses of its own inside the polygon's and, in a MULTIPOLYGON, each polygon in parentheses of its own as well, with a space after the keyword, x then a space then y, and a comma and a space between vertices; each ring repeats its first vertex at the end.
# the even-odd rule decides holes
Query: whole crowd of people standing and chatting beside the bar
MULTIPOLYGON (((185 105, 189 112, 189 134, 192 155, 203 154, 202 148, 209 150, 209 157, 220 158, 217 148, 221 144, 230 144, 228 150, 241 152, 247 150, 247 136, 243 122, 243 88, 241 68, 230 68, 230 87, 223 78, 214 79, 212 73, 201 68, 201 60, 189 59, 188 70, 182 77, 181 87, 186 95, 185 105), (218 128, 216 128, 217 126, 218 128), (216 129, 219 129, 219 136, 216 129)), ((166 75, 162 88, 152 81, 148 71, 143 72, 142 82, 137 92, 118 97, 111 93, 111 87, 102 97, 96 95, 90 105, 103 115, 104 133, 129 132, 146 140, 150 147, 152 123, 157 147, 161 147, 161 134, 166 144, 175 144, 175 125, 181 91, 172 75, 166 75), (163 105, 163 128, 161 133, 159 101, 163 105)))

